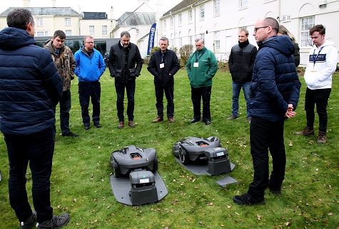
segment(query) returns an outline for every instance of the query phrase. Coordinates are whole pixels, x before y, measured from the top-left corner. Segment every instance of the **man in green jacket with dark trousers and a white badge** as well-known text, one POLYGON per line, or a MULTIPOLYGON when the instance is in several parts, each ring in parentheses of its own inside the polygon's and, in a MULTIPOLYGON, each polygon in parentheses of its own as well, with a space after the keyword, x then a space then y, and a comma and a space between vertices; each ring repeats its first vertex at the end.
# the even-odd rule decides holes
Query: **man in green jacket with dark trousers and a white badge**
POLYGON ((203 98, 203 122, 209 125, 212 78, 218 70, 218 61, 214 53, 205 47, 203 38, 196 39, 196 51, 188 58, 186 68, 191 84, 194 112, 191 123, 199 122, 201 119, 201 98, 203 98))

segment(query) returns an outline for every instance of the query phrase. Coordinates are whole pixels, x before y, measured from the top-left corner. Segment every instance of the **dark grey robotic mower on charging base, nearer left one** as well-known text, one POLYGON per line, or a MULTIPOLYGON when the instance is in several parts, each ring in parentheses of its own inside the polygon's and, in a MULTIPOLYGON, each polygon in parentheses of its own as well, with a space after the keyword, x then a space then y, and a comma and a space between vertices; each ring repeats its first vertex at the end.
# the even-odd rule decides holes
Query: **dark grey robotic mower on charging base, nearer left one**
POLYGON ((161 201, 167 188, 158 174, 156 149, 130 145, 113 151, 110 159, 113 195, 119 203, 140 206, 161 201))

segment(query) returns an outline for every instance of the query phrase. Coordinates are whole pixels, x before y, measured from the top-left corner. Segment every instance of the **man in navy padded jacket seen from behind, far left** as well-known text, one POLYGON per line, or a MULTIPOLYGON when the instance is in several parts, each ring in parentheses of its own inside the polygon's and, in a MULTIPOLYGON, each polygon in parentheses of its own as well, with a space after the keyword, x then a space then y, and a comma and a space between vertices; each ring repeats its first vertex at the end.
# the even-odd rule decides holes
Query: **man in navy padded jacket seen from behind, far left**
POLYGON ((51 54, 34 41, 34 18, 27 9, 7 16, 0 31, 0 130, 9 156, 9 200, 20 228, 61 228, 69 214, 53 215, 50 177, 56 133, 54 107, 62 80, 51 54), (26 193, 27 166, 35 211, 26 193))

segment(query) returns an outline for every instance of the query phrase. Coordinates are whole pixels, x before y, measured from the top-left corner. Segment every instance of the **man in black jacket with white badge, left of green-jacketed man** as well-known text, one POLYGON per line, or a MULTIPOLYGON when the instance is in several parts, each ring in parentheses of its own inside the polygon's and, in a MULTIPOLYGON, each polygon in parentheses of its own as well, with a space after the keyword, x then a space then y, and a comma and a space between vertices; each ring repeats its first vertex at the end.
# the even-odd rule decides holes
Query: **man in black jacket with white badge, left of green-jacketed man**
POLYGON ((167 100, 168 122, 173 123, 174 115, 174 74, 178 72, 180 65, 178 57, 173 50, 168 50, 168 38, 162 37, 159 41, 160 50, 154 52, 149 60, 147 70, 154 76, 156 88, 156 110, 158 117, 153 123, 163 121, 163 92, 167 100))

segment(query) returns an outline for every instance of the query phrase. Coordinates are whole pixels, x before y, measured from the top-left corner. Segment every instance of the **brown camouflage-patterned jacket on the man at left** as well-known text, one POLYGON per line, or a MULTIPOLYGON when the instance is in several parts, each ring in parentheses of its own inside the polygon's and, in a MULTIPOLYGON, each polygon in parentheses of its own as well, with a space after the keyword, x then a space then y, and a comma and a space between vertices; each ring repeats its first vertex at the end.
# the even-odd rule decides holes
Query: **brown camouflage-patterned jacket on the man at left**
POLYGON ((76 68, 76 60, 74 60, 74 55, 71 48, 67 46, 62 46, 59 53, 56 53, 52 46, 53 41, 49 40, 44 43, 44 48, 49 50, 51 57, 56 65, 56 69, 61 76, 64 91, 71 88, 71 80, 74 79, 74 69, 76 68))

